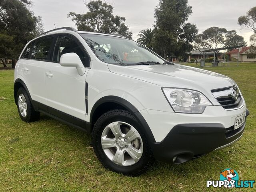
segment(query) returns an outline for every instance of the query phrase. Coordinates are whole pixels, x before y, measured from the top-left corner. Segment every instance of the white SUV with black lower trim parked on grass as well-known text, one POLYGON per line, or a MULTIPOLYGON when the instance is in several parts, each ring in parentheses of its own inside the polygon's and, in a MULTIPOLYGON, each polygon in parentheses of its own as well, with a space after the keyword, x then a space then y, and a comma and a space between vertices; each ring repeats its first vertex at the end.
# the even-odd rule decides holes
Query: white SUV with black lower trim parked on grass
POLYGON ((233 144, 249 114, 227 76, 170 63, 120 35, 68 27, 28 42, 14 97, 22 120, 42 112, 85 130, 100 162, 130 176, 154 160, 180 164, 233 144))

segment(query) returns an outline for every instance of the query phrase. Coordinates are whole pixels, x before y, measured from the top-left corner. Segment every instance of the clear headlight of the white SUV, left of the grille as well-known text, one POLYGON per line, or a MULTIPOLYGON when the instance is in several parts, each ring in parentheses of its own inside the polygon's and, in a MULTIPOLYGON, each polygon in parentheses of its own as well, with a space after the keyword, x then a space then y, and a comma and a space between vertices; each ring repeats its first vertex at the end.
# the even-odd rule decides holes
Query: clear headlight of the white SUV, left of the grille
POLYGON ((176 88, 162 88, 165 97, 177 113, 203 113, 212 103, 202 93, 176 88))

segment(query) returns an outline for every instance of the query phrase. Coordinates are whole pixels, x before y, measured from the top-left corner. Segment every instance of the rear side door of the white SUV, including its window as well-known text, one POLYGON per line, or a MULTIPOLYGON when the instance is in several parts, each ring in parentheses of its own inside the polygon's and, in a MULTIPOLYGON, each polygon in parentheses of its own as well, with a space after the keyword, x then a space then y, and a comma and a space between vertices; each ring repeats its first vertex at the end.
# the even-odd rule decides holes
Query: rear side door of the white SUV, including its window
POLYGON ((54 36, 40 38, 33 42, 30 56, 22 58, 23 77, 33 101, 47 104, 44 70, 50 60, 50 49, 53 46, 54 36))

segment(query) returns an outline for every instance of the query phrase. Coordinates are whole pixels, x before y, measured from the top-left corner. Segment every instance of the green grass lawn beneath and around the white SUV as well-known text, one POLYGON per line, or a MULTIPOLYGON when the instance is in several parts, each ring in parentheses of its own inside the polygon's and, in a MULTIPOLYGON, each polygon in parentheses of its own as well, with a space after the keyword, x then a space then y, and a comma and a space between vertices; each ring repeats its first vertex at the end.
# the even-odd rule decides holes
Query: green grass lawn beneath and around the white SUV
POLYGON ((230 76, 242 91, 250 110, 242 139, 185 164, 156 162, 138 177, 103 168, 84 132, 44 115, 22 122, 14 104, 14 70, 0 70, 0 191, 216 191, 206 188, 206 180, 218 180, 225 168, 234 168, 241 180, 255 180, 256 64, 235 66, 204 69, 230 76))

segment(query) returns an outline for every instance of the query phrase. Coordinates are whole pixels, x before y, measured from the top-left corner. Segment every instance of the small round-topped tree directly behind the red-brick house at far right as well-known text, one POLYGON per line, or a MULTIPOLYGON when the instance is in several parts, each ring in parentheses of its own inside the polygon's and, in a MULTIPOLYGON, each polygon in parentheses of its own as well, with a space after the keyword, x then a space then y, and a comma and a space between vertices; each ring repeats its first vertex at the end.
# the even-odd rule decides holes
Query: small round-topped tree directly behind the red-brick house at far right
POLYGON ((225 35, 225 38, 226 38, 225 47, 232 47, 232 46, 238 46, 238 45, 246 46, 244 37, 238 35, 235 30, 228 31, 225 35))

